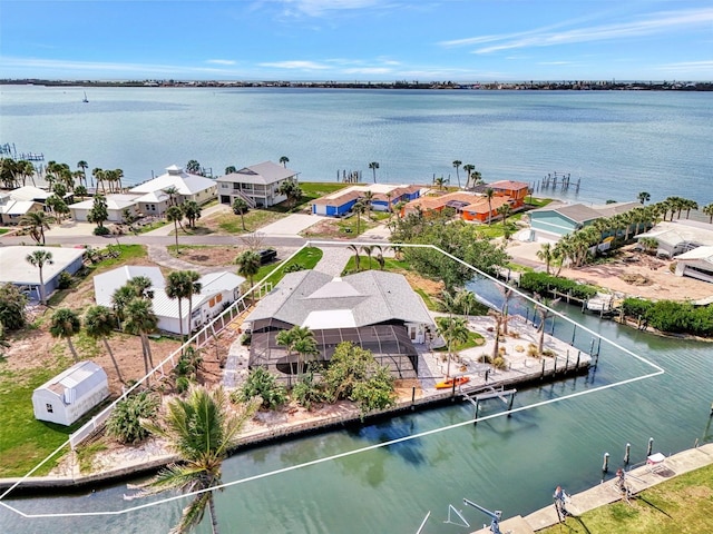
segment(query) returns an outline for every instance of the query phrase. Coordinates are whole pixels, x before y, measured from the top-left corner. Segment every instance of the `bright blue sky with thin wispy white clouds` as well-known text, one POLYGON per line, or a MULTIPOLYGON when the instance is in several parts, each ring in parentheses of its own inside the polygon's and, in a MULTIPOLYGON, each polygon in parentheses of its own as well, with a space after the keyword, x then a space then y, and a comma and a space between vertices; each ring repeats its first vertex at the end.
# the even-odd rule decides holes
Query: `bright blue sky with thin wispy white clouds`
POLYGON ((0 78, 713 80, 713 3, 0 0, 0 78))

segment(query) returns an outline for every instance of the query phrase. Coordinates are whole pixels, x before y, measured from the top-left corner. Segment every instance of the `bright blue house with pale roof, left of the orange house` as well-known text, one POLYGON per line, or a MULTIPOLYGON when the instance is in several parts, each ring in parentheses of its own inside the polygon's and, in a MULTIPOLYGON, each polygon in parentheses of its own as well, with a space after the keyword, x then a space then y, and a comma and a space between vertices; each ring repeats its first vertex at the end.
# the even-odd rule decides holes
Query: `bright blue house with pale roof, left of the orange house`
POLYGON ((341 217, 349 214, 367 191, 372 192, 371 209, 374 211, 390 211, 399 202, 409 202, 420 197, 421 186, 390 186, 372 184, 351 186, 330 195, 318 198, 312 202, 312 214, 328 217, 341 217))

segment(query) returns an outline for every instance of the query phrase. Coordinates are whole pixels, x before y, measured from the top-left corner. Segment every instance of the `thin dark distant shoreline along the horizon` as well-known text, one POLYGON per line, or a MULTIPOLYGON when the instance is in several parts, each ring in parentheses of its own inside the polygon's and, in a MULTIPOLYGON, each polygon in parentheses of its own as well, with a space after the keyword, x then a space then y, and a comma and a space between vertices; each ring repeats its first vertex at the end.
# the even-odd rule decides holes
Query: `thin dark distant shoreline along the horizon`
POLYGON ((227 81, 227 80, 45 80, 39 78, 3 79, 4 86, 43 87, 180 87, 180 88, 289 88, 289 89, 429 89, 429 90, 529 90, 529 91, 713 91, 712 81, 227 81))

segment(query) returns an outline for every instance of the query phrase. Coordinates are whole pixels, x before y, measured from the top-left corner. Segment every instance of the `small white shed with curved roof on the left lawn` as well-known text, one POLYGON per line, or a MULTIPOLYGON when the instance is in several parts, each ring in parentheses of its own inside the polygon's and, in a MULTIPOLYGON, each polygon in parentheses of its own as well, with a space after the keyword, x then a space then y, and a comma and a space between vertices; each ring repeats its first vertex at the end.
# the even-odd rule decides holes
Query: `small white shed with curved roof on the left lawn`
POLYGON ((35 418, 69 426, 108 396, 104 369, 94 362, 79 362, 35 389, 35 418))

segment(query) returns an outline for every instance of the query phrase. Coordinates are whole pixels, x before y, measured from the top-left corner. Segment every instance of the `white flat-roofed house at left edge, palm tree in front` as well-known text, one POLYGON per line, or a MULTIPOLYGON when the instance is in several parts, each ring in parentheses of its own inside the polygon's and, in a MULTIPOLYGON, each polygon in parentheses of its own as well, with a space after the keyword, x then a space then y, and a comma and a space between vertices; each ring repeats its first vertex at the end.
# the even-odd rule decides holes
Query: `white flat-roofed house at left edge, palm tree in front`
POLYGON ((77 273, 84 264, 84 248, 60 247, 0 247, 0 284, 13 284, 27 290, 31 300, 40 299, 40 271, 32 267, 25 258, 35 250, 47 250, 52 254, 52 263, 45 264, 42 279, 47 298, 59 286, 59 276, 62 271, 70 275, 77 273))

